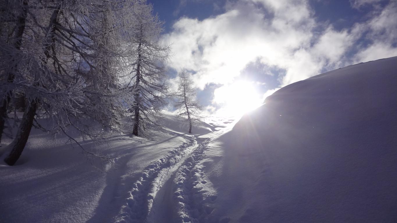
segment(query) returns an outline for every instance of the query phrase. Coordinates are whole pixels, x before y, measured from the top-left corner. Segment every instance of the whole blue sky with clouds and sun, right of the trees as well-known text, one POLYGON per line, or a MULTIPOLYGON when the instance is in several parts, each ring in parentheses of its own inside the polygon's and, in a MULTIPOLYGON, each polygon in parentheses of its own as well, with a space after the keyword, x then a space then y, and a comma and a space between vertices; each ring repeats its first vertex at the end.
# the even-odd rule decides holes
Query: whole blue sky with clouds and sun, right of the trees
POLYGON ((182 67, 190 71, 200 102, 220 115, 260 105, 280 87, 310 76, 397 56, 396 0, 148 3, 166 22, 170 76, 182 67))

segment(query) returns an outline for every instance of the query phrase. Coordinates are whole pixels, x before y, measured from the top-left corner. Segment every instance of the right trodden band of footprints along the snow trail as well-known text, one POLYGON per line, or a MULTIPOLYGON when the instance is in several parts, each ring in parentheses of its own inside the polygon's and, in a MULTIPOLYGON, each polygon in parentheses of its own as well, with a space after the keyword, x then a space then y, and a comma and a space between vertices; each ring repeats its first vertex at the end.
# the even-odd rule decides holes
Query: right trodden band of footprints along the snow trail
POLYGON ((211 204, 217 196, 214 189, 208 190, 210 182, 202 170, 202 156, 209 142, 200 143, 175 175, 173 200, 178 223, 206 222, 214 209, 211 204))

